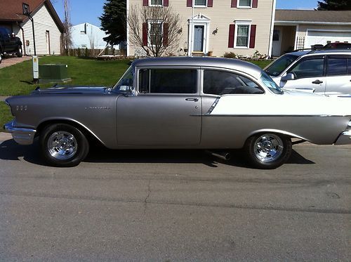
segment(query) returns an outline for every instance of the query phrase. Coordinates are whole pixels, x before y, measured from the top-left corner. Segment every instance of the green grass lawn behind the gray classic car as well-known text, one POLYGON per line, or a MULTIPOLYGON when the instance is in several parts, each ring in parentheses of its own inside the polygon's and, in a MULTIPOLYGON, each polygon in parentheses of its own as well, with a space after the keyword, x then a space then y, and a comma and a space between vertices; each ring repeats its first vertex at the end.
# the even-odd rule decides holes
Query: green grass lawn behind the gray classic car
MULTIPOLYGON (((265 67, 270 60, 250 61, 265 67)), ((72 78, 69 85, 111 86, 115 84, 128 67, 128 60, 102 61, 72 56, 46 56, 39 58, 39 64, 65 64, 68 75, 72 78)), ((0 96, 27 95, 37 86, 46 88, 52 84, 32 84, 32 60, 5 67, 0 70, 0 96)), ((0 102, 0 131, 11 119, 9 108, 0 102)))

